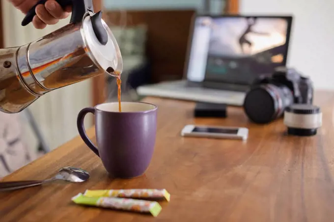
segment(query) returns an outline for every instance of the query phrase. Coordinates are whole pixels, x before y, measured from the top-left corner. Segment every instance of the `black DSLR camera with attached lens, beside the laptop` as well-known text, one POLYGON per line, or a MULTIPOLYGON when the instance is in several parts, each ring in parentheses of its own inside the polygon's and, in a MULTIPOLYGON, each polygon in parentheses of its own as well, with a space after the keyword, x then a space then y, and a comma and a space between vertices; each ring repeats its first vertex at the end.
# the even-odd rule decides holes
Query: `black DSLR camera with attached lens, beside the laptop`
POLYGON ((278 67, 273 75, 260 76, 247 92, 244 110, 255 123, 269 123, 292 104, 312 104, 313 83, 295 69, 278 67))

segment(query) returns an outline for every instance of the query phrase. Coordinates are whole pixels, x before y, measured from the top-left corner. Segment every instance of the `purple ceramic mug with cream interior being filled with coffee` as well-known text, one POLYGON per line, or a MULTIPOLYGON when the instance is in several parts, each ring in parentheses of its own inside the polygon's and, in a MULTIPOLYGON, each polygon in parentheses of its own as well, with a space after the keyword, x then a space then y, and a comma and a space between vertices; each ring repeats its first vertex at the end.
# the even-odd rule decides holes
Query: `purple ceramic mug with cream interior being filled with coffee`
POLYGON ((84 108, 78 114, 78 130, 86 145, 98 155, 112 177, 143 174, 151 162, 157 132, 157 107, 141 102, 105 103, 84 108), (95 115, 97 147, 84 130, 84 116, 95 115))

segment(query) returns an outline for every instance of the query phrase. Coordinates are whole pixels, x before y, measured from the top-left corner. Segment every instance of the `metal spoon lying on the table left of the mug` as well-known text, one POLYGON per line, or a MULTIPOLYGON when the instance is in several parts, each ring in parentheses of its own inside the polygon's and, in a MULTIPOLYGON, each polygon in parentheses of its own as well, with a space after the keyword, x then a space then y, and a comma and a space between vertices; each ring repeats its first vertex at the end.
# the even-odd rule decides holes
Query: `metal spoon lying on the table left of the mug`
POLYGON ((49 178, 47 180, 0 182, 0 192, 34 187, 55 180, 65 180, 69 182, 80 183, 88 179, 89 179, 89 173, 84 171, 83 169, 75 167, 63 167, 58 171, 56 176, 49 178))

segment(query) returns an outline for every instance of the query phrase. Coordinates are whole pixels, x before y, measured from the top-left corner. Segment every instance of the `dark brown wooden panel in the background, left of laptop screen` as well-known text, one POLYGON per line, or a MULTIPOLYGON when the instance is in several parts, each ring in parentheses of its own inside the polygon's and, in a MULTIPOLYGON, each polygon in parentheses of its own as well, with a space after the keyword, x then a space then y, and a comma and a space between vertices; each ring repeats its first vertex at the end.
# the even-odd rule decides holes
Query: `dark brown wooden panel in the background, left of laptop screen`
POLYGON ((195 9, 106 11, 106 23, 113 26, 147 28, 145 56, 151 68, 151 82, 182 79, 195 9), (126 13, 126 14, 125 14, 126 13))

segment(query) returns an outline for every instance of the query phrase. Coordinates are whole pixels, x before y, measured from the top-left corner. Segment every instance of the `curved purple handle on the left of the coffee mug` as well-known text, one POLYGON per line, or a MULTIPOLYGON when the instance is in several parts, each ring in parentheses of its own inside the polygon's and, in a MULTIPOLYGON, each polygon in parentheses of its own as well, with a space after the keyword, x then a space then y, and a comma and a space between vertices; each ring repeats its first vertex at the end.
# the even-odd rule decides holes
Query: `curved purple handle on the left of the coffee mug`
POLYGON ((99 155, 99 150, 94 145, 94 143, 88 138, 88 136, 86 134, 86 131, 84 129, 83 120, 84 120, 84 117, 86 116, 86 114, 88 112, 93 113, 95 115, 95 109, 93 107, 84 108, 78 114, 77 127, 78 127, 78 131, 79 131, 79 135, 83 139, 84 143, 86 143, 88 148, 91 149, 97 156, 100 156, 99 155))

